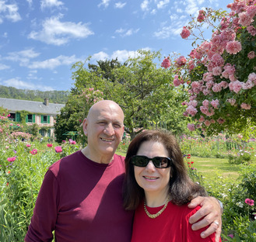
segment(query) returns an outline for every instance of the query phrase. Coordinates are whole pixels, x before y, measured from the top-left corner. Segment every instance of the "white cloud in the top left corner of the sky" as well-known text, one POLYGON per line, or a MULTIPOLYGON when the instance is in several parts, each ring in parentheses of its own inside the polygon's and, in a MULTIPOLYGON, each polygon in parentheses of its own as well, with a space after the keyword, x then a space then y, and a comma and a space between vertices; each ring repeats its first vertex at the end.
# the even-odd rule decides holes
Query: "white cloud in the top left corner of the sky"
POLYGON ((6 4, 5 1, 0 1, 0 23, 3 22, 2 19, 9 19, 12 22, 21 20, 18 10, 18 5, 6 4))

